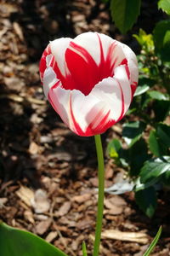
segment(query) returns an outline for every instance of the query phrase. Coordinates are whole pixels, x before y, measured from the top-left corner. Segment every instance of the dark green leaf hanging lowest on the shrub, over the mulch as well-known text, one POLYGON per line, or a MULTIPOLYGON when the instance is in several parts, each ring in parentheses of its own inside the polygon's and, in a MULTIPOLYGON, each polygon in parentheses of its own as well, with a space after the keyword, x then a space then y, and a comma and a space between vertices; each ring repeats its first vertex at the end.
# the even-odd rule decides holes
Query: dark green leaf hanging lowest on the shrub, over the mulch
POLYGON ((135 192, 135 200, 139 208, 151 218, 156 211, 156 190, 153 187, 135 192))

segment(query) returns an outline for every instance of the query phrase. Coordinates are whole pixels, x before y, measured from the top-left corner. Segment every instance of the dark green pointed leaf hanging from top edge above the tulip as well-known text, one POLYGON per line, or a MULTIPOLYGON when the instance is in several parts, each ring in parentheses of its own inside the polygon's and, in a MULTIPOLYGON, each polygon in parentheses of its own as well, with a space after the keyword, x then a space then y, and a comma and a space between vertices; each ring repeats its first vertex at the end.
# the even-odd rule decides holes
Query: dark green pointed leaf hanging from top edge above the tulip
POLYGON ((141 0, 111 0, 111 17, 122 33, 126 33, 137 20, 141 0))

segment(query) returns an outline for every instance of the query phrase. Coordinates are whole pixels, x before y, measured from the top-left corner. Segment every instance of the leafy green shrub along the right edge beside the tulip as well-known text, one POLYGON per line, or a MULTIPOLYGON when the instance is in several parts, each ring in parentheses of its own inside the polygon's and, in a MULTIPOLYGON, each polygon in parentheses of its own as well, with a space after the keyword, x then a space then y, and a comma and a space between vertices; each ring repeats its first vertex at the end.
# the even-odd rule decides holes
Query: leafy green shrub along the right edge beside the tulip
MULTIPOLYGON (((161 0, 158 7, 169 14, 170 1, 161 0)), ((108 151, 116 164, 127 170, 135 184, 137 204, 152 217, 156 190, 170 189, 170 20, 158 22, 153 34, 140 29, 139 35, 133 36, 141 46, 140 74, 128 114, 140 121, 123 125, 126 147, 114 139, 108 151)))

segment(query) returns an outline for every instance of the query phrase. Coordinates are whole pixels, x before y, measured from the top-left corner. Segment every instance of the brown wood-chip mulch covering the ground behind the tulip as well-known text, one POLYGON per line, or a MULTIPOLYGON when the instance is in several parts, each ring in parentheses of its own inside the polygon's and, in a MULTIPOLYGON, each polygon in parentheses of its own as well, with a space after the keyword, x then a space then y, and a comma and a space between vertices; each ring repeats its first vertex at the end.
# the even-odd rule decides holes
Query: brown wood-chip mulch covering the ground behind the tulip
MULTIPOLYGON (((150 32, 159 19, 148 2, 133 32, 140 26, 150 32)), ((0 17, 0 218, 69 255, 82 255, 82 241, 91 253, 98 187, 94 138, 77 137, 54 113, 43 96, 38 61, 49 40, 89 30, 110 34, 136 50, 138 45, 130 33, 118 32, 100 1, 2 0, 0 17)), ((117 124, 102 136, 105 148, 112 137, 121 137, 121 129, 117 124)), ((106 154, 105 166, 109 187, 124 171, 106 154)), ((133 192, 105 194, 101 255, 142 255, 160 224, 163 234, 152 255, 169 255, 169 191, 161 191, 159 198, 156 215, 149 219, 136 206, 133 192)))

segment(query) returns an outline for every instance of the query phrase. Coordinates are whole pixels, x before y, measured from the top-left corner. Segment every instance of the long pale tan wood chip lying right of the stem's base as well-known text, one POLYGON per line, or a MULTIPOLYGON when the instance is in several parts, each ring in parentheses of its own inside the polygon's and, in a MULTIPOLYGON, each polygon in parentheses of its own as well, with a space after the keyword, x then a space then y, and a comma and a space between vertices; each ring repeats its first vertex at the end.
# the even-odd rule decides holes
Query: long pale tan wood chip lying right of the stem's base
POLYGON ((102 238, 109 238, 121 241, 133 241, 142 244, 148 243, 148 236, 140 232, 122 232, 119 230, 105 230, 101 234, 102 238))

